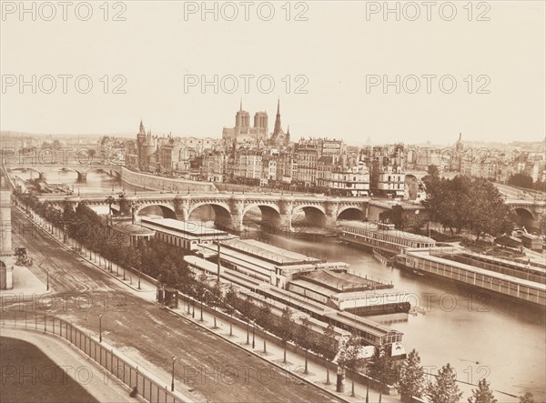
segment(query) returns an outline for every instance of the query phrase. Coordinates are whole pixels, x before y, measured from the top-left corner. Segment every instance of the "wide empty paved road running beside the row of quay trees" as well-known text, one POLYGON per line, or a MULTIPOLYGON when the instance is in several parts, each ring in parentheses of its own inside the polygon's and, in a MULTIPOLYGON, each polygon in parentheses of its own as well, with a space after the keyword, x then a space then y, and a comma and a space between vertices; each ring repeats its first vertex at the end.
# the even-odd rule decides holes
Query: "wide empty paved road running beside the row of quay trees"
MULTIPOLYGON (((15 220, 25 220, 13 211, 15 220)), ((95 335, 98 315, 103 314, 103 338, 142 367, 149 368, 151 363, 155 368, 149 369, 165 379, 166 385, 170 383, 171 358, 176 356, 176 388, 198 401, 336 401, 319 388, 288 378, 284 371, 127 291, 43 233, 37 232, 35 237, 27 233, 25 237, 15 231, 14 246, 27 247, 34 260, 30 269, 44 283, 45 268, 49 268, 50 286, 56 291, 50 298, 36 296, 34 302, 32 296, 26 296, 25 310, 55 314, 95 335), (56 304, 48 303, 51 300, 56 304), (49 306, 52 309, 45 312, 49 306)), ((4 315, 15 311, 21 315, 21 307, 15 304, 4 315)))

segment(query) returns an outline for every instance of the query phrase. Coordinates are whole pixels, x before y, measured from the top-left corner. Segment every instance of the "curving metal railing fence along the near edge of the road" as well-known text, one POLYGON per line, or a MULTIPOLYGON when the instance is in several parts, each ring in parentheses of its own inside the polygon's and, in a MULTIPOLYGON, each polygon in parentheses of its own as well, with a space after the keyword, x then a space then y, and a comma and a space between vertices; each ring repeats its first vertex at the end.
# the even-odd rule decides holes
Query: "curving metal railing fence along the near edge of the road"
POLYGON ((106 348, 96 338, 86 335, 82 330, 70 322, 58 317, 29 314, 25 312, 22 317, 6 319, 3 317, 2 326, 24 327, 50 333, 72 344, 82 351, 88 358, 92 358, 96 364, 106 370, 106 374, 118 382, 124 383, 129 388, 138 390, 140 395, 150 403, 183 403, 175 393, 167 390, 167 386, 161 386, 157 381, 139 372, 138 368, 129 364, 124 358, 116 355, 113 349, 106 348))

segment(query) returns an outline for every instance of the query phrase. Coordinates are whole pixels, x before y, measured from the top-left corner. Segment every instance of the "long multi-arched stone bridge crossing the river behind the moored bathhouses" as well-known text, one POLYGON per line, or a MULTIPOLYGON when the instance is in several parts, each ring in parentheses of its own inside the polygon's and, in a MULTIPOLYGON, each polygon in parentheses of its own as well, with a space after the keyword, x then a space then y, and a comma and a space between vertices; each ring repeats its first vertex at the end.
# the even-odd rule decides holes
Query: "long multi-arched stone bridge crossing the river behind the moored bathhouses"
POLYGON ((147 207, 160 207, 164 217, 190 220, 199 207, 208 206, 215 212, 218 227, 236 231, 244 227, 245 216, 251 209, 261 211, 262 225, 292 229, 293 226, 335 227, 339 219, 363 219, 368 215, 368 197, 289 196, 283 194, 241 193, 139 193, 89 194, 78 196, 42 195, 38 198, 55 207, 66 202, 77 205, 85 202, 89 207, 107 207, 108 197, 113 197, 112 209, 116 214, 138 215, 147 207))

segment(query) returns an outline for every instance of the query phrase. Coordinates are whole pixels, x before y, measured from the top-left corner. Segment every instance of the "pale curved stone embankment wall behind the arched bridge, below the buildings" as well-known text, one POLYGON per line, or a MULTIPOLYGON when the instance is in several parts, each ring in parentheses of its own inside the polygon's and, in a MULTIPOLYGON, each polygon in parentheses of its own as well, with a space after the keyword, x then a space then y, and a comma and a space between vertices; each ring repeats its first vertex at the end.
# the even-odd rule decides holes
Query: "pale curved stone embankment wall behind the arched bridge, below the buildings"
POLYGON ((127 185, 146 187, 149 190, 174 190, 178 192, 214 192, 217 190, 214 184, 210 182, 155 176, 131 171, 126 167, 121 168, 121 181, 127 185))

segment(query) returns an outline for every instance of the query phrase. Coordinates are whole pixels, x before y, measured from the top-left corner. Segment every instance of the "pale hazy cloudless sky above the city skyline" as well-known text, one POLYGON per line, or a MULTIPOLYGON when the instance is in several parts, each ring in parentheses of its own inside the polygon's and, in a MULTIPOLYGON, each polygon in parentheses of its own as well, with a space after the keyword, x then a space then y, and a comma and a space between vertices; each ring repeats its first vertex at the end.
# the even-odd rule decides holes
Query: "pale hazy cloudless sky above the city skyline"
POLYGON ((27 2, 33 21, 31 12, 20 15, 18 1, 2 2, 2 130, 136 133, 142 117, 153 133, 217 137, 234 126, 242 98, 251 120, 268 112, 272 131, 280 97, 292 138, 448 144, 460 132, 483 141, 545 135, 543 1, 432 2, 430 10, 389 2, 400 21, 383 14, 382 1, 248 2, 248 21, 244 2, 207 2, 217 21, 212 12, 201 15, 201 2, 90 2, 87 21, 86 4, 71 3, 64 21, 58 2, 27 2), (19 86, 33 75, 35 94, 19 86), (63 75, 72 76, 66 94, 63 75), (93 85, 87 94, 75 84, 82 76, 78 88, 86 92, 85 75, 93 85), (254 76, 248 94, 245 75, 254 76), (385 91, 384 79, 397 75, 399 94, 395 85, 385 91), (217 94, 200 85, 215 76, 217 94), (126 93, 114 94, 120 84, 126 93))

